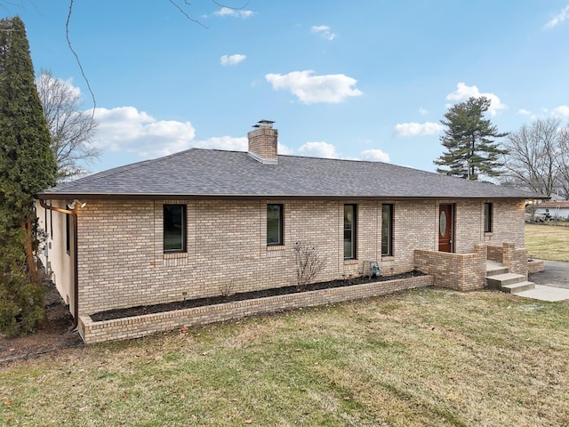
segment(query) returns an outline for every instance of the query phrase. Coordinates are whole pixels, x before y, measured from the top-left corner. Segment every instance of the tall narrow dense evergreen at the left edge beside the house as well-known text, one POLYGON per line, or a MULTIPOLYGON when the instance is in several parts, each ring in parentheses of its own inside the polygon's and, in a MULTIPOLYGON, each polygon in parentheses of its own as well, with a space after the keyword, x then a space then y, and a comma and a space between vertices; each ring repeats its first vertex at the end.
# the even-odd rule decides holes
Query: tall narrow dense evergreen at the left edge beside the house
POLYGON ((34 82, 26 28, 0 20, 0 329, 33 330, 43 318, 34 258, 34 194, 55 183, 56 162, 34 82))

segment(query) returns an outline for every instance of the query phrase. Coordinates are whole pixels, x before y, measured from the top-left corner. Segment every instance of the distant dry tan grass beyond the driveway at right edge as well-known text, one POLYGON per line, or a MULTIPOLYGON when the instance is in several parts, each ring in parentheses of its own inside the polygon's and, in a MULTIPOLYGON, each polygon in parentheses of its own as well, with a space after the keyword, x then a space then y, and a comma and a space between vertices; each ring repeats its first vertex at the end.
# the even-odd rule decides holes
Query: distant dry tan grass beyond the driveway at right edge
POLYGON ((525 247, 534 258, 569 262, 569 227, 525 224, 525 247))

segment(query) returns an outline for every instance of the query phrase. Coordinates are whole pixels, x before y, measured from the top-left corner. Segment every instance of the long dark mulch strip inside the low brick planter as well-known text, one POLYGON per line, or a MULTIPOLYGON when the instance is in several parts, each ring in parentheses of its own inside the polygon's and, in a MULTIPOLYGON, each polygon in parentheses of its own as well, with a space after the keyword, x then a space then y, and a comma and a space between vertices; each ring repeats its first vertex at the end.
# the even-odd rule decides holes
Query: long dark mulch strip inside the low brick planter
POLYGON ((115 318, 131 318, 133 316, 140 316, 143 314, 153 314, 153 313, 162 313, 164 311, 190 309, 194 307, 203 307, 205 305, 221 304, 224 302, 253 300, 257 298, 263 298, 266 296, 295 294, 303 291, 317 291, 320 289, 330 289, 333 287, 361 285, 373 282, 384 282, 388 280, 396 280, 397 278, 415 278, 423 275, 424 274, 421 273, 421 271, 413 270, 393 276, 378 276, 375 278, 369 278, 368 276, 360 276, 357 278, 346 278, 339 280, 331 280, 327 282, 318 282, 304 286, 302 290, 299 290, 298 286, 275 287, 271 289, 243 292, 227 296, 220 295, 209 298, 196 298, 194 300, 166 302, 162 304, 153 304, 153 305, 140 305, 137 307, 130 307, 127 309, 100 311, 98 313, 92 314, 91 318, 94 322, 101 322, 104 320, 112 320, 115 318))

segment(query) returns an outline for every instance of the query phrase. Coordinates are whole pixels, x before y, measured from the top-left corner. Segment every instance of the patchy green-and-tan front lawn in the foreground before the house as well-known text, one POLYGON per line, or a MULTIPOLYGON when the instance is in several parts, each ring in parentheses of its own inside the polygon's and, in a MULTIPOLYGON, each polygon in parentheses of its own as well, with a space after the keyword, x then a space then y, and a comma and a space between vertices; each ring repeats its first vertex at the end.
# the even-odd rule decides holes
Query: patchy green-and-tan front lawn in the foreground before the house
POLYGON ((419 289, 0 370, 0 425, 569 424, 569 304, 419 289))

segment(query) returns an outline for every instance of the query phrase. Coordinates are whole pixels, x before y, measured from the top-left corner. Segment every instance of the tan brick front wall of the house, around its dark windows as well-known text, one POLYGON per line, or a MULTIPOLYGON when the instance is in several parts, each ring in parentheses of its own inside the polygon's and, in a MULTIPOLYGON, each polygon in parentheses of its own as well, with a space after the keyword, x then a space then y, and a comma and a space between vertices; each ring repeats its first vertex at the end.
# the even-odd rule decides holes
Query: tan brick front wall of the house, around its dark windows
MULTIPOLYGON (((415 251, 436 253, 439 203, 447 201, 90 201, 78 212, 80 314, 215 296, 228 286, 232 292, 246 292, 293 285, 297 241, 316 246, 325 258, 318 281, 360 275, 365 261, 379 262, 383 275, 414 268, 430 272, 432 268, 416 262, 415 251), (185 254, 163 253, 164 203, 187 205, 185 254), (266 245, 268 203, 284 205, 284 246, 266 245), (343 259, 345 203, 357 204, 354 261, 343 259), (382 203, 394 205, 393 256, 389 257, 381 257, 382 203)), ((521 237, 514 241, 523 242, 523 211, 521 226, 517 224, 519 202, 494 203, 497 223, 490 238, 504 241, 521 230, 521 237)), ((484 202, 459 201, 455 210, 455 255, 473 254, 475 245, 488 238, 481 231, 484 202)), ((467 284, 465 277, 457 280, 459 285, 449 287, 477 286, 467 284)))

